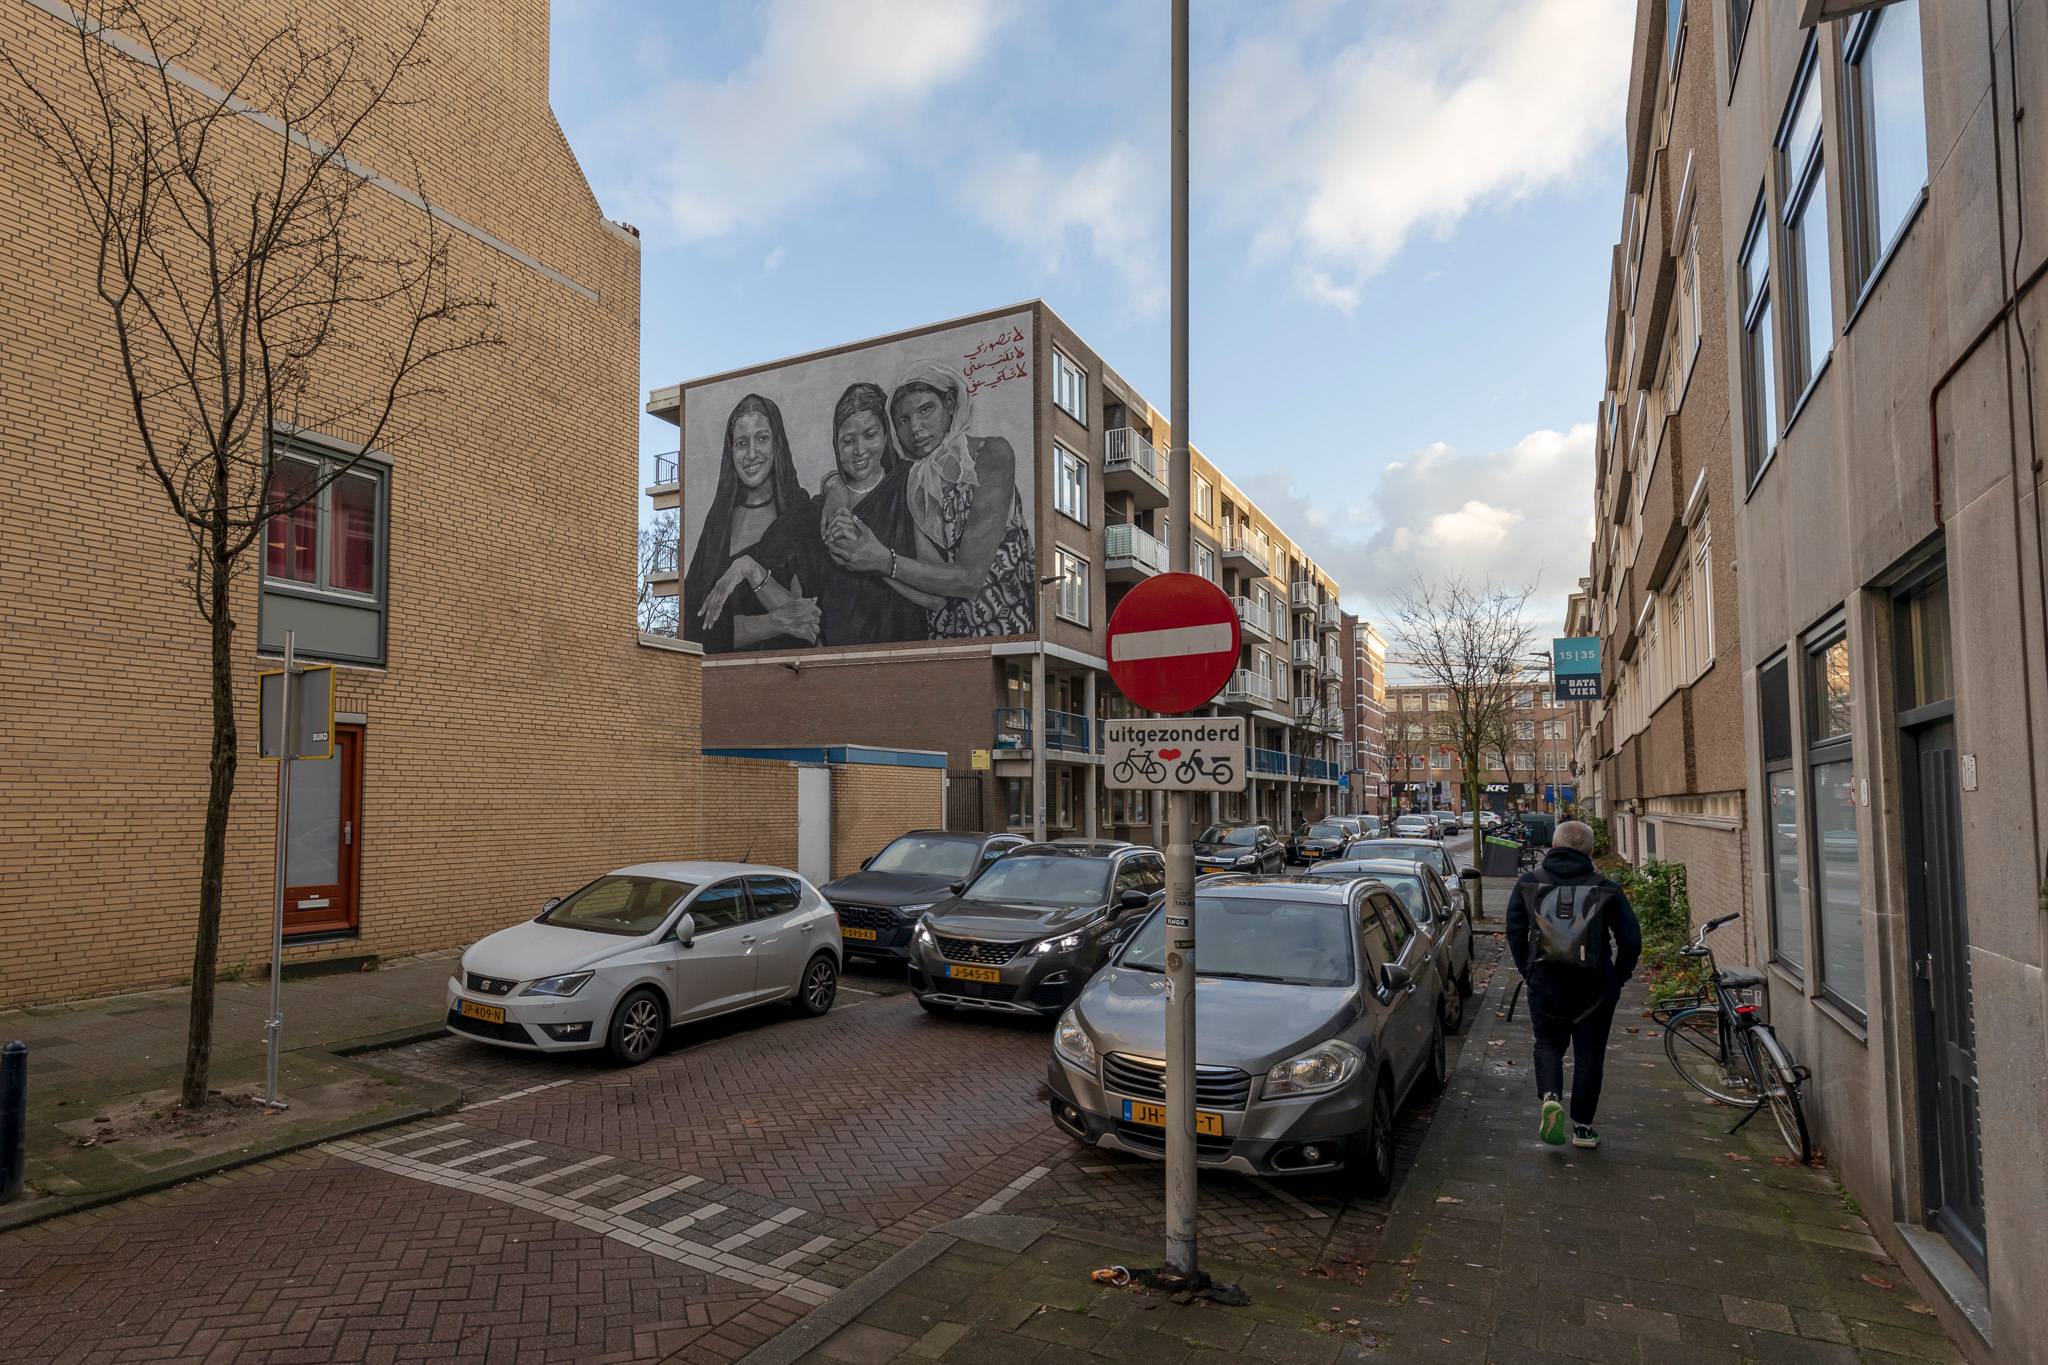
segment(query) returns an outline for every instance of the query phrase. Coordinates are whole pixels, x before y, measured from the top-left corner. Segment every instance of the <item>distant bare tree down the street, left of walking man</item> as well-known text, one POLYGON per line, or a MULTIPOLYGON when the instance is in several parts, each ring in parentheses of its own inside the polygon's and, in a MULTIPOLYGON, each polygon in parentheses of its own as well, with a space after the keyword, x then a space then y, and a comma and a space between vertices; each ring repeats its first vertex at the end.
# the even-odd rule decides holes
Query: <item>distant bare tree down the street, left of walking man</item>
MULTIPOLYGON (((1464 765, 1466 806, 1479 808, 1481 774, 1495 735, 1509 735, 1522 657, 1534 630, 1524 612, 1534 587, 1473 587, 1462 577, 1415 583, 1395 600, 1393 645, 1399 661, 1432 690, 1444 694, 1444 710, 1432 712, 1434 743, 1448 747, 1464 765)), ((1473 866, 1481 868, 1479 827, 1473 827, 1473 866)), ((1481 902, 1473 907, 1479 915, 1481 902)))

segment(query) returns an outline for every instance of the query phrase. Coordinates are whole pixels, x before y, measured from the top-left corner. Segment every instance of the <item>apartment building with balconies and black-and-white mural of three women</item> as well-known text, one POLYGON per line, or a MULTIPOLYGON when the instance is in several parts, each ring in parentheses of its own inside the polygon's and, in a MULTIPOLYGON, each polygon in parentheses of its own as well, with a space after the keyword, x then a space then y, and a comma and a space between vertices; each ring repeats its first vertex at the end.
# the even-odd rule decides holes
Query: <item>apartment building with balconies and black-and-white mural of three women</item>
MULTIPOLYGON (((1110 790, 1100 755, 1102 720, 1145 714, 1110 681, 1108 620, 1169 567, 1171 432, 1051 307, 657 389, 647 409, 680 430, 680 458, 647 491, 680 512, 659 589, 682 593, 684 634, 705 647, 707 745, 940 749, 958 827, 1157 837, 1161 802, 1110 790), (920 403, 928 417, 909 411, 920 403), (866 465, 860 440, 891 448, 866 465), (961 467, 971 483, 952 477, 961 467), (874 544, 834 544, 827 483, 860 489, 852 512, 874 544), (891 524, 899 538, 881 544, 891 524), (754 596, 719 593, 729 573, 754 596), (903 587, 920 600, 889 598, 907 600, 903 587)), ((1249 731, 1249 790, 1206 812, 1288 825, 1335 810, 1337 583, 1200 450, 1190 503, 1188 569, 1223 587, 1243 628, 1214 710, 1249 731)))

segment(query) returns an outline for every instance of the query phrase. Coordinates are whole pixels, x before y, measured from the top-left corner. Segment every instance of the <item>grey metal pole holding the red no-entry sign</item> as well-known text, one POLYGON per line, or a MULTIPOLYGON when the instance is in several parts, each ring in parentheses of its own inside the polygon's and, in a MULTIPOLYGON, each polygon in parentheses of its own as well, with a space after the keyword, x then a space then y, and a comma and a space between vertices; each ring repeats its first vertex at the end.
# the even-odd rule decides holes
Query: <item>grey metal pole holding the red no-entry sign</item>
MULTIPOLYGON (((1174 0, 1174 446, 1167 567, 1194 563, 1188 456, 1188 0, 1174 0)), ((1194 1238, 1194 839, 1188 794, 1165 798, 1165 1269, 1196 1277, 1194 1238)))

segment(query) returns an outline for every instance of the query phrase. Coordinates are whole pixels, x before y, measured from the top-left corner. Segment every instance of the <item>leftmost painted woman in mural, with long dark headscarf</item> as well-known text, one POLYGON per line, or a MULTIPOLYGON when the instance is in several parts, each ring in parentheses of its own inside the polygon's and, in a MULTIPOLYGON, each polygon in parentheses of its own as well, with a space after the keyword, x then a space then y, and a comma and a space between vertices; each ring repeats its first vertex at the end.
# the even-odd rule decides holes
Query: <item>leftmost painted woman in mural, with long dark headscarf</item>
POLYGON ((690 571, 682 579, 682 634, 698 641, 707 655, 817 643, 817 600, 805 596, 801 573, 793 573, 782 557, 776 557, 778 565, 770 565, 762 583, 739 581, 719 596, 717 610, 707 610, 733 561, 764 540, 776 544, 776 528, 791 516, 809 520, 813 503, 797 483, 782 409, 750 393, 733 403, 725 420, 719 487, 696 534, 690 571), (776 567, 782 569, 780 575, 774 573, 776 567))

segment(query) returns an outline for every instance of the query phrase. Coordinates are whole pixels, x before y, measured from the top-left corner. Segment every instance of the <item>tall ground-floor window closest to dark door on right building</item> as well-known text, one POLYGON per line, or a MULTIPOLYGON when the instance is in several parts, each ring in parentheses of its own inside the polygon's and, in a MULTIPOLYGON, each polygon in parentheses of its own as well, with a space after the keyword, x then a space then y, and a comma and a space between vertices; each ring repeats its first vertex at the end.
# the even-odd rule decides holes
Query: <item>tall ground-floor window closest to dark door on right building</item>
POLYGON ((1862 1021, 1864 874, 1855 835, 1855 737, 1849 641, 1835 626, 1806 647, 1806 790, 1812 884, 1821 909, 1821 995, 1862 1021))

